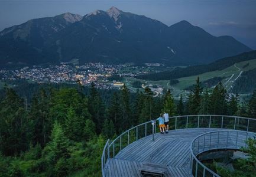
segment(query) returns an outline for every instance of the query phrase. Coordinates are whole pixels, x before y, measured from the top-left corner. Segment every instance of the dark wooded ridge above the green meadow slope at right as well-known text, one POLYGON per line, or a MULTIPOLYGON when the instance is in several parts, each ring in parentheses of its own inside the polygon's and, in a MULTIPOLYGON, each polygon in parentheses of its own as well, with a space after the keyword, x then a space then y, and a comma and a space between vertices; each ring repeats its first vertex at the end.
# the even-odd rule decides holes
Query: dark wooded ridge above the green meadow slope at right
POLYGON ((137 76, 137 78, 144 79, 144 80, 171 80, 174 78, 195 76, 197 74, 202 74, 210 71, 223 70, 235 63, 252 60, 255 58, 256 58, 256 51, 250 51, 247 53, 235 55, 233 57, 222 58, 221 60, 214 61, 213 63, 210 63, 210 64, 193 65, 186 68, 177 67, 172 71, 163 71, 160 73, 141 75, 141 76, 137 76))

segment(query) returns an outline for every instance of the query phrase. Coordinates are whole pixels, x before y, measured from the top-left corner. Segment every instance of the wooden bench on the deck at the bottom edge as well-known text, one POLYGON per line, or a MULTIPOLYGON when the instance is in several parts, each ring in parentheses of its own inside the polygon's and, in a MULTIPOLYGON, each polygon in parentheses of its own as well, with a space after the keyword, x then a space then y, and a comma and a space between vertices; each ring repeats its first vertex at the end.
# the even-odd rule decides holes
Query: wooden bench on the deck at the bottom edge
POLYGON ((166 165, 160 165, 157 163, 142 163, 142 166, 138 168, 142 176, 161 176, 163 177, 167 171, 166 165))

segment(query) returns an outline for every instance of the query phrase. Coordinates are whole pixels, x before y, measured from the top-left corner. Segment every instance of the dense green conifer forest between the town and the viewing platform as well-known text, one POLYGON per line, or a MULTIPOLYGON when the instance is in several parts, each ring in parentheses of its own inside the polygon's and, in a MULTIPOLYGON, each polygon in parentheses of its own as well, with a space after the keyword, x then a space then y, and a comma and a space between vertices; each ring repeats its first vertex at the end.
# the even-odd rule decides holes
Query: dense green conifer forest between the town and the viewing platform
POLYGON ((244 103, 222 83, 208 91, 199 78, 178 103, 170 90, 153 97, 149 87, 137 93, 94 83, 18 88, 5 86, 0 94, 0 176, 101 176, 106 140, 163 112, 256 117, 256 90, 244 103))

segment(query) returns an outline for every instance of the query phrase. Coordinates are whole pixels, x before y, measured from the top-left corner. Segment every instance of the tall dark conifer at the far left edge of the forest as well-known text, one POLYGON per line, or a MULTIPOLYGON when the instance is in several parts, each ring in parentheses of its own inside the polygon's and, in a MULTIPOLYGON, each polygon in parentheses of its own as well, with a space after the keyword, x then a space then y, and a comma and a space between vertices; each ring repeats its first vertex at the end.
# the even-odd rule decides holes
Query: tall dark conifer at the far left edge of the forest
POLYGON ((13 89, 5 89, 0 102, 0 151, 4 155, 18 155, 28 148, 28 130, 24 100, 13 89))

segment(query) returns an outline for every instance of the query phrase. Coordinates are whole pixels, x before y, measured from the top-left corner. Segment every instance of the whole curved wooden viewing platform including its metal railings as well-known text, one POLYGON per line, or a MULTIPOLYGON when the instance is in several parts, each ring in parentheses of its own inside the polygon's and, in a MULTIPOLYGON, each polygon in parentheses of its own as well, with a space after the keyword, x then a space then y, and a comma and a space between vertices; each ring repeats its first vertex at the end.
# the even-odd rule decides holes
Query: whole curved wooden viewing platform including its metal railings
POLYGON ((208 150, 246 146, 255 137, 256 119, 235 116, 170 117, 168 133, 157 133, 151 122, 132 127, 105 145, 102 176, 219 176, 203 165, 197 155, 208 150))

